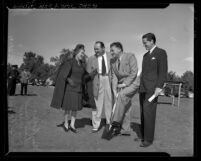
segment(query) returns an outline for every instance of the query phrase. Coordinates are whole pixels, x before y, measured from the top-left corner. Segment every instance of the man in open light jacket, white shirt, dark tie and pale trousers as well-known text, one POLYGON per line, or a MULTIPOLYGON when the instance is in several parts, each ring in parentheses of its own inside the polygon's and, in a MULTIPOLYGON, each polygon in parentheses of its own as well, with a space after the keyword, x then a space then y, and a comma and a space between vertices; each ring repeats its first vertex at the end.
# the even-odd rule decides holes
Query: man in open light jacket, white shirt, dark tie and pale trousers
POLYGON ((95 55, 89 57, 87 62, 87 72, 97 70, 93 78, 93 96, 96 109, 92 109, 92 132, 97 132, 101 123, 101 115, 104 108, 106 123, 110 124, 112 112, 112 91, 111 91, 111 71, 110 53, 105 52, 104 43, 97 41, 94 45, 95 55))

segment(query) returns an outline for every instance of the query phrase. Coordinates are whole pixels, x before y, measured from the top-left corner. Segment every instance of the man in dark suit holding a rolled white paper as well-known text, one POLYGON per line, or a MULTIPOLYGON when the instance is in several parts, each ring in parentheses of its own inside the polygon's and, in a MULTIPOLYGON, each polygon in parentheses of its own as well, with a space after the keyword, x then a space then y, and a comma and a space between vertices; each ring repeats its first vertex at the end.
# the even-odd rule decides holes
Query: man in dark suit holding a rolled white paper
POLYGON ((156 38, 152 33, 142 37, 145 53, 142 61, 142 73, 140 80, 140 110, 141 110, 141 147, 150 146, 154 140, 156 106, 164 82, 167 78, 167 54, 166 51, 156 46, 156 38), (156 98, 149 102, 148 99, 155 94, 156 98))

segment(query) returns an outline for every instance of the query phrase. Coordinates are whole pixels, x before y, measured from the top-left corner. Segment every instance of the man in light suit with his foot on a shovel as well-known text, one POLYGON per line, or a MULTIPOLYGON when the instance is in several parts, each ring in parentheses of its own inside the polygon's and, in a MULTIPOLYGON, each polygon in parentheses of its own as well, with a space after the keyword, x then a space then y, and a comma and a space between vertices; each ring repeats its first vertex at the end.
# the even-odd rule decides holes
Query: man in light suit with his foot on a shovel
POLYGON ((140 79, 137 77, 138 67, 134 54, 123 52, 120 42, 110 45, 112 89, 116 99, 116 108, 112 118, 109 138, 118 134, 130 135, 131 99, 138 91, 140 79))

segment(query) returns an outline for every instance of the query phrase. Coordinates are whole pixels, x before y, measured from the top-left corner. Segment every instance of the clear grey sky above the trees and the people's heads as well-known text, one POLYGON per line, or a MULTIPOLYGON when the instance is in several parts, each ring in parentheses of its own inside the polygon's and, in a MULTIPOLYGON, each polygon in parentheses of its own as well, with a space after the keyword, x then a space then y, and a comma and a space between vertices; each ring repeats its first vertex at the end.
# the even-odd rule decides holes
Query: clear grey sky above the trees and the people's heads
POLYGON ((141 37, 148 32, 167 51, 168 71, 194 71, 193 4, 166 9, 9 9, 8 62, 20 65, 24 52, 32 51, 50 63, 50 57, 78 43, 91 56, 95 41, 103 41, 107 51, 110 43, 120 41, 125 52, 135 54, 140 70, 146 52, 141 37))

